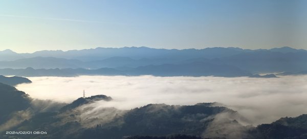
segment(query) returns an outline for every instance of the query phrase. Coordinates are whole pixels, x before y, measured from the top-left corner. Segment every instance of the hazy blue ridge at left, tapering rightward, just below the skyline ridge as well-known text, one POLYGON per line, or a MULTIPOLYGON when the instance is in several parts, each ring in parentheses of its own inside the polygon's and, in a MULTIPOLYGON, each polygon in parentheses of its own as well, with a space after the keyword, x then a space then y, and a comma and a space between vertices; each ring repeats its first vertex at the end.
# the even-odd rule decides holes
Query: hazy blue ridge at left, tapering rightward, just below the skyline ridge
POLYGON ((103 60, 80 61, 75 59, 64 59, 55 57, 34 57, 18 59, 14 61, 0 61, 0 68, 91 68, 97 69, 102 67, 138 67, 148 64, 163 64, 177 62, 176 60, 167 59, 132 59, 129 57, 111 57, 103 60))

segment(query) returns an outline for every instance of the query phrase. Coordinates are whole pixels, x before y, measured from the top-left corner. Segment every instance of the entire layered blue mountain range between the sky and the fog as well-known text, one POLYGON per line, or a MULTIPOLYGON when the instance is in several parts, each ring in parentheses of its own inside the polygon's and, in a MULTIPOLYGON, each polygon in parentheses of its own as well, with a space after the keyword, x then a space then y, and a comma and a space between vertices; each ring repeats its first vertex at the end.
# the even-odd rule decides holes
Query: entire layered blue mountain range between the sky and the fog
MULTIPOLYGON (((46 69, 44 72, 38 72, 40 75, 30 73, 29 70, 21 72, 24 74, 12 74, 19 76, 79 75, 79 73, 71 71, 70 73, 60 71, 60 73, 55 74, 54 72, 56 71, 51 68, 72 68, 79 70, 82 68, 84 70, 107 68, 116 73, 111 72, 112 74, 105 73, 103 75, 148 74, 157 76, 223 77, 251 76, 259 73, 298 73, 307 71, 307 51, 289 47, 270 50, 245 50, 239 48, 167 50, 146 47, 125 47, 71 50, 65 52, 39 51, 31 54, 18 54, 10 50, 5 50, 0 51, 0 59, 0 68, 2 69, 12 68, 21 70, 27 67, 46 69), (25 72, 28 73, 25 74, 25 72)), ((7 70, 2 70, 0 74, 8 75, 5 73, 7 70)))

